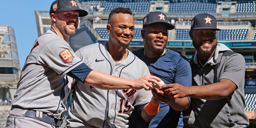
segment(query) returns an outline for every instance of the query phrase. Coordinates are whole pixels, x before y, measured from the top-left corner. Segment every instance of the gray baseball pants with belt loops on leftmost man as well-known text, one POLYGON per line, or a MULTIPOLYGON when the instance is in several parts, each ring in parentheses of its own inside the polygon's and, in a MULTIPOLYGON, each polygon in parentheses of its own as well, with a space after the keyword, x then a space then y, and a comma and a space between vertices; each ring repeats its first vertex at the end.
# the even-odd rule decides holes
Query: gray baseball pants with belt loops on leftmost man
POLYGON ((5 128, 60 128, 40 121, 42 112, 37 111, 35 118, 25 117, 27 110, 14 108, 10 111, 5 128))

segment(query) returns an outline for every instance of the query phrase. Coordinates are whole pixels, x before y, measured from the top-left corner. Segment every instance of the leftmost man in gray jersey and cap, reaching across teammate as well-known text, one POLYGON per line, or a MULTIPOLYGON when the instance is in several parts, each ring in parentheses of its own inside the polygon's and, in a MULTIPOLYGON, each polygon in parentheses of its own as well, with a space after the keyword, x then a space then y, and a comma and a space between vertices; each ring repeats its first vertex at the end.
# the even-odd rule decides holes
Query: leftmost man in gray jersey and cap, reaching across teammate
MULTIPOLYGON (((67 110, 66 99, 72 82, 67 76, 101 89, 135 88, 139 92, 141 88, 151 90, 150 82, 158 84, 159 78, 145 76, 146 73, 144 77, 141 75, 143 78, 133 78, 136 80, 118 78, 92 70, 82 62, 67 41, 76 31, 78 17, 87 14, 78 8, 74 0, 56 0, 52 3, 51 30, 36 40, 26 59, 6 128, 60 127, 67 110)), ((132 37, 122 35, 120 38, 128 43, 132 37)))

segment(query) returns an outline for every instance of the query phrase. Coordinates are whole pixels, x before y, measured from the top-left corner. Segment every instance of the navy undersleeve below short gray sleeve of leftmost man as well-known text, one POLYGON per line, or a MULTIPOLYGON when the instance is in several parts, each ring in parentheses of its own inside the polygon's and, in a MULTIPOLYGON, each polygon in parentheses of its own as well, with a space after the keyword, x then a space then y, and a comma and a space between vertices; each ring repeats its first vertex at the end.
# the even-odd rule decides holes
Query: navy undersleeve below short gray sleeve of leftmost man
POLYGON ((67 75, 83 83, 84 79, 88 76, 88 74, 91 71, 91 68, 89 68, 85 63, 82 63, 78 65, 76 68, 69 71, 67 75))

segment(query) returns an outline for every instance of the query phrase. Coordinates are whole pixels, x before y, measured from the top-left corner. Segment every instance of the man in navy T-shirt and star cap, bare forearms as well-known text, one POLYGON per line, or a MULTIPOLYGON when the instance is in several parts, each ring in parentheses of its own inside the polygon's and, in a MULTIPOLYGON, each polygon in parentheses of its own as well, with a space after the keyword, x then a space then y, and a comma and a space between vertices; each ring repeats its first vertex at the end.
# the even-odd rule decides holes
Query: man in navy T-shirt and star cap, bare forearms
MULTIPOLYGON (((143 28, 140 31, 144 48, 133 53, 145 62, 150 74, 160 78, 165 84, 178 83, 191 86, 192 73, 188 59, 168 48, 168 30, 174 29, 168 17, 162 12, 149 12, 143 18, 143 28)), ((163 94, 153 93, 160 102, 158 114, 150 121, 140 118, 137 106, 129 118, 129 128, 183 128, 182 110, 190 104, 190 97, 171 98, 163 94)))

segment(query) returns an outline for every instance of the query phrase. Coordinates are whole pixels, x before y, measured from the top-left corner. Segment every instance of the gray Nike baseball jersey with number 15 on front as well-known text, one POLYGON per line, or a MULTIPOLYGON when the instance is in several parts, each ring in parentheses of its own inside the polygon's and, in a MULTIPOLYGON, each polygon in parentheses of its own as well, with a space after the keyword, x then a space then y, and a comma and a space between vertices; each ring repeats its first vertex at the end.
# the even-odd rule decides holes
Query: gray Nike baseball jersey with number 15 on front
MULTIPOLYGON (((142 60, 128 50, 125 60, 114 62, 107 51, 108 42, 96 43, 80 48, 76 55, 90 68, 120 78, 138 79, 150 75, 142 60)), ((135 105, 146 104, 152 98, 151 91, 101 90, 77 82, 76 94, 70 106, 69 128, 127 128, 128 117, 135 105)))

